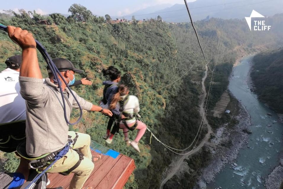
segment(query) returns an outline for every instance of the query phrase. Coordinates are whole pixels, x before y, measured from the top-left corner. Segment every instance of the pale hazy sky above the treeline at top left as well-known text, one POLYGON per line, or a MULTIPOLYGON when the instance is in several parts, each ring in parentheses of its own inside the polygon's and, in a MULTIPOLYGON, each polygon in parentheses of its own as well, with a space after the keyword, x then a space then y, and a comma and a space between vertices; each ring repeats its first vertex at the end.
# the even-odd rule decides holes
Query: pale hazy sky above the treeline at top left
MULTIPOLYGON (((192 1, 195 0, 187 0, 187 2, 192 1)), ((0 12, 9 9, 14 11, 25 9, 26 11, 36 10, 40 14, 54 12, 70 14, 68 13, 68 9, 74 3, 81 4, 91 10, 93 14, 100 16, 104 16, 105 14, 122 16, 157 4, 184 4, 184 0, 2 0, 0 12)))

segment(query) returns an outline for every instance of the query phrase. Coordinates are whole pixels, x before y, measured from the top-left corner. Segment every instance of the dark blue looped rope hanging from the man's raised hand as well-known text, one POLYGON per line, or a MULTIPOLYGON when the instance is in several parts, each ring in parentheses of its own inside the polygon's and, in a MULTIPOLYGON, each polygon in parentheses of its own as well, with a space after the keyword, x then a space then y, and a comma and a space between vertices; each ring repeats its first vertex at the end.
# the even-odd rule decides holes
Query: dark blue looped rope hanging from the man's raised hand
MULTIPOLYGON (((0 30, 4 30, 5 32, 7 32, 7 26, 4 26, 2 24, 0 24, 0 30)), ((47 53, 46 49, 44 48, 43 45, 41 45, 41 43, 39 43, 37 40, 36 41, 36 48, 39 50, 39 52, 41 53, 41 55, 43 56, 44 60, 46 61, 47 65, 49 66, 53 76, 54 76, 54 84, 58 84, 59 88, 60 88, 60 93, 61 93, 61 97, 62 97, 62 101, 63 101, 63 106, 64 106, 64 117, 66 122, 69 125, 75 125, 77 124, 83 115, 83 111, 81 108, 80 103, 78 102, 78 100, 76 99, 75 95, 73 94, 72 90, 70 89, 69 85, 67 84, 67 82, 65 81, 65 79, 63 78, 63 76, 61 75, 60 71, 57 69, 57 67, 55 66, 55 64, 53 63, 52 59, 50 58, 49 54, 47 53), (78 120, 75 123, 70 123, 69 120, 67 119, 67 113, 66 113, 66 103, 65 103, 65 98, 64 98, 64 94, 63 94, 63 90, 61 87, 61 80, 59 79, 58 75, 62 78, 63 82, 66 84, 67 88, 69 89, 70 93, 73 95, 73 97, 75 98, 75 101, 78 104, 78 107, 80 108, 81 114, 80 117, 78 118, 78 120)))

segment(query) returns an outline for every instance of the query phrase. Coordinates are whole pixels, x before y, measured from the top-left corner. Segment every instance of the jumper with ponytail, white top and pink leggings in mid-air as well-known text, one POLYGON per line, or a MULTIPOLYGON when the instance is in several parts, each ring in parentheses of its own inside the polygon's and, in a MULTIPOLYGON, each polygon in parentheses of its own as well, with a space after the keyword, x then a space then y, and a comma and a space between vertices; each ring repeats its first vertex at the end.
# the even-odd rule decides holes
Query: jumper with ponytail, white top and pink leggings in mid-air
POLYGON ((123 129, 125 136, 124 141, 127 144, 130 143, 130 145, 140 153, 138 143, 144 135, 147 126, 143 122, 136 120, 135 114, 138 115, 137 113, 140 110, 139 100, 136 96, 129 95, 129 87, 125 84, 121 84, 118 87, 117 93, 112 98, 110 109, 113 109, 115 107, 117 107, 120 111, 120 116, 119 118, 115 118, 115 122, 118 123, 117 126, 119 125, 119 127, 123 129), (135 140, 130 142, 128 138, 128 132, 135 129, 139 131, 136 135, 135 140))

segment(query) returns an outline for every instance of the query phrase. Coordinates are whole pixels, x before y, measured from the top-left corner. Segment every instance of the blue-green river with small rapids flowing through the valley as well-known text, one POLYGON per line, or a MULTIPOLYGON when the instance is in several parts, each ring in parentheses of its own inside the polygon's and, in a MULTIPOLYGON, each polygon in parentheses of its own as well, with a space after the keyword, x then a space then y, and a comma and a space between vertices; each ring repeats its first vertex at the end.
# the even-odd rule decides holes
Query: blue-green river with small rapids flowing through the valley
POLYGON ((246 107, 251 116, 248 144, 239 151, 234 162, 237 167, 227 164, 218 173, 208 189, 260 188, 265 189, 264 181, 268 174, 279 165, 279 152, 282 150, 283 124, 271 109, 259 102, 250 91, 249 69, 253 55, 243 58, 233 68, 230 77, 230 92, 246 107), (269 116, 267 113, 271 113, 269 116), (267 125, 271 125, 268 127, 267 125))

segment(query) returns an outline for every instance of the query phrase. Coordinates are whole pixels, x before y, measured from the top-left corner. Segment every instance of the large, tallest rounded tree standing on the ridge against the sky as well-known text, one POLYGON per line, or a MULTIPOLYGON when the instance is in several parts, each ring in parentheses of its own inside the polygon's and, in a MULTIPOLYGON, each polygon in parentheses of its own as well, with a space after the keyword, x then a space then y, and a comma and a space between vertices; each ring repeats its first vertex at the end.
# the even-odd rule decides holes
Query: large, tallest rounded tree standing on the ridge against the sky
POLYGON ((90 10, 80 4, 72 4, 68 9, 68 12, 71 12, 71 16, 77 22, 87 22, 93 17, 93 14, 90 10))

